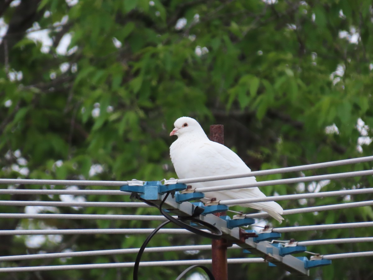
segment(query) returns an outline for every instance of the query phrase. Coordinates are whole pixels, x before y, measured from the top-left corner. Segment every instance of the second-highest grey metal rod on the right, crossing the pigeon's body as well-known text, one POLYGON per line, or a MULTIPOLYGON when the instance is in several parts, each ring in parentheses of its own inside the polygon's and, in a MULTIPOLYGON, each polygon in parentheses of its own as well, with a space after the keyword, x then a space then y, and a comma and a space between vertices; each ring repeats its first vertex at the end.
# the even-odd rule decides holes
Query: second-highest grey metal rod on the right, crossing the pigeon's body
POLYGON ((353 172, 344 172, 344 173, 336 173, 336 174, 325 174, 325 175, 308 176, 308 177, 300 177, 300 178, 279 179, 279 180, 270 180, 270 181, 262 181, 262 182, 247 183, 247 184, 203 187, 203 188, 194 189, 194 191, 200 192, 200 193, 206 193, 206 192, 216 192, 220 190, 235 190, 235 189, 274 186, 274 185, 280 185, 280 184, 293 184, 293 183, 301 183, 301 182, 321 181, 321 180, 367 176, 367 175, 373 175, 373 170, 353 171, 353 172))

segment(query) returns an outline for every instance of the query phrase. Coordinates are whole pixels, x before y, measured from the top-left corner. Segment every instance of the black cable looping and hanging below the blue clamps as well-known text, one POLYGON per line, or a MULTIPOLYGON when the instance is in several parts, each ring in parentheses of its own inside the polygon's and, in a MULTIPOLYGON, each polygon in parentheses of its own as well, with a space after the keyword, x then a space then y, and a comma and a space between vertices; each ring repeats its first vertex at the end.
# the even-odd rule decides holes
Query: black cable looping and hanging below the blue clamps
MULTIPOLYGON (((222 236, 222 231, 219 230, 219 228, 215 227, 214 225, 211 225, 205 221, 202 221, 198 218, 196 218, 196 216, 199 216, 202 212, 203 212, 203 208, 200 208, 200 207, 196 207, 195 210, 194 210, 194 213, 192 216, 189 216, 189 217, 179 217, 178 219, 175 219, 173 218, 171 215, 167 214, 166 212, 164 212, 164 210, 162 209, 162 206, 163 206, 163 203, 166 201, 167 197, 169 196, 169 192, 167 192, 166 196, 164 196, 162 202, 160 203, 160 205, 156 205, 154 204, 153 202, 150 202, 146 199, 143 199, 141 198, 139 195, 136 195, 136 198, 141 200, 142 202, 145 202, 147 203, 148 205, 151 205, 151 206, 154 206, 156 208, 159 209, 159 211, 161 212, 161 214, 166 217, 168 219, 168 221, 165 221, 163 222, 162 224, 160 224, 157 228, 155 228, 149 235, 148 237, 145 239, 144 243, 142 243, 142 246, 139 250, 139 252, 137 253, 137 257, 136 257, 136 261, 135 261, 135 265, 134 265, 134 274, 133 274, 133 280, 138 280, 138 268, 139 268, 139 265, 140 265, 140 260, 141 260, 141 256, 142 256, 142 253, 144 253, 144 250, 146 248, 146 246, 148 245, 150 239, 157 233, 157 231, 159 231, 162 227, 164 227, 166 224, 170 223, 170 222, 173 222, 177 225, 179 225, 180 227, 182 228, 185 228, 193 233, 196 233, 200 236, 203 236, 203 237, 208 237, 210 239, 219 239, 221 236, 222 236), (195 228, 189 224, 186 224, 182 221, 191 221, 191 222, 194 222, 194 223, 198 223, 200 225, 203 225, 204 227, 207 227, 209 228, 209 230, 211 230, 211 233, 208 233, 208 232, 205 232, 203 230, 200 230, 198 228, 195 228)), ((210 280, 215 280, 213 274, 211 273, 211 271, 203 266, 203 265, 192 265, 191 267, 188 267, 186 268, 186 270, 184 270, 176 280, 179 280, 181 279, 181 277, 185 276, 186 273, 188 273, 189 271, 191 271, 192 269, 196 268, 196 267, 200 267, 202 268, 206 273, 207 275, 209 276, 210 280)))

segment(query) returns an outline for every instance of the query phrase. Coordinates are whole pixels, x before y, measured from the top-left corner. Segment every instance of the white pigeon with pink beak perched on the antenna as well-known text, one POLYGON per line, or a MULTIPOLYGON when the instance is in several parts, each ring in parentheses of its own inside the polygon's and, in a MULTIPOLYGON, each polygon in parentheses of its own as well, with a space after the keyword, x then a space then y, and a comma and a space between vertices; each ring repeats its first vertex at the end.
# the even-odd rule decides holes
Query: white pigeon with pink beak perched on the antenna
MULTIPOLYGON (((181 117, 175 123, 170 136, 178 139, 170 146, 170 156, 176 174, 180 179, 226 175, 250 172, 250 168, 228 147, 210 141, 201 125, 192 118, 181 117)), ((255 177, 236 178, 219 181, 194 183, 194 188, 223 186, 231 184, 246 184, 256 182, 255 177)), ((251 197, 265 197, 257 187, 206 192, 207 198, 216 197, 217 200, 244 199, 251 197)), ((274 202, 245 203, 242 206, 267 212, 281 222, 282 207, 274 202)))

